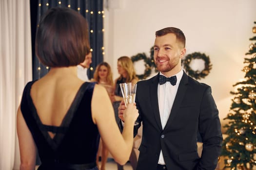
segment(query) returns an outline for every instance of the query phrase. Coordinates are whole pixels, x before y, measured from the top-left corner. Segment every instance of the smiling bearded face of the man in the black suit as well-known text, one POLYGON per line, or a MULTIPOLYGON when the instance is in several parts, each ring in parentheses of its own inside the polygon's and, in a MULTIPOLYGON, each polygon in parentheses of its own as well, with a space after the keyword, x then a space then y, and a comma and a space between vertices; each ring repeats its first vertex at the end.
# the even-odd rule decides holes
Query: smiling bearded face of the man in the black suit
POLYGON ((154 62, 162 73, 179 71, 181 69, 181 58, 186 52, 177 42, 176 35, 169 33, 157 36, 154 45, 154 62))

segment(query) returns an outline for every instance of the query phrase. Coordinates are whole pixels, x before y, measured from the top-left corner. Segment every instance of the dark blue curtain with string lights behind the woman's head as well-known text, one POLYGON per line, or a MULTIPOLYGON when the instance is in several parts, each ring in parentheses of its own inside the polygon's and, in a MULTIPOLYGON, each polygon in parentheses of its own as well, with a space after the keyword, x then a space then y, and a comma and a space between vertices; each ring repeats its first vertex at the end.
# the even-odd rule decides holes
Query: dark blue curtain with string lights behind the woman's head
POLYGON ((103 61, 103 0, 30 0, 31 37, 33 56, 33 80, 44 76, 50 68, 43 66, 35 54, 35 38, 40 17, 51 7, 69 7, 81 14, 88 21, 89 37, 92 51, 92 64, 88 69, 89 79, 94 69, 103 61))

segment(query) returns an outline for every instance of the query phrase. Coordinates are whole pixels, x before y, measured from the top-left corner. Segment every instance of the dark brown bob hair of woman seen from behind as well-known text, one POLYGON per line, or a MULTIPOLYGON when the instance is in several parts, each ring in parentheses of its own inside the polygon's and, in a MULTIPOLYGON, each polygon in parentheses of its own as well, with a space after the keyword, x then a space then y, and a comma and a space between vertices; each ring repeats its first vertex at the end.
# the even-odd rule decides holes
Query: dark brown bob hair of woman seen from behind
POLYGON ((90 52, 86 19, 70 8, 49 9, 40 20, 35 47, 45 66, 79 65, 90 52))

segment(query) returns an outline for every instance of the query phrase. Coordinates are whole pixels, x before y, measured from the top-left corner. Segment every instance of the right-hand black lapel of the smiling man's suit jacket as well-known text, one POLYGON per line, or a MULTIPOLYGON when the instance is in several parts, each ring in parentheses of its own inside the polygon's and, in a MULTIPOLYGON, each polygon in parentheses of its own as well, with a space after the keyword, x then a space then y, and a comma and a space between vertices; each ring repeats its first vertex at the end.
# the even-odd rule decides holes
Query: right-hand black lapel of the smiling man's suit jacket
POLYGON ((173 103, 173 107, 172 107, 170 116, 167 120, 167 123, 164 127, 164 130, 168 129, 168 127, 172 124, 173 120, 175 119, 175 116, 178 113, 178 109, 179 109, 179 107, 181 105, 181 102, 184 98, 184 95, 187 91, 187 84, 188 84, 188 75, 184 72, 183 76, 180 80, 178 90, 177 90, 177 94, 176 94, 176 97, 175 97, 175 100, 174 100, 174 103, 173 103))

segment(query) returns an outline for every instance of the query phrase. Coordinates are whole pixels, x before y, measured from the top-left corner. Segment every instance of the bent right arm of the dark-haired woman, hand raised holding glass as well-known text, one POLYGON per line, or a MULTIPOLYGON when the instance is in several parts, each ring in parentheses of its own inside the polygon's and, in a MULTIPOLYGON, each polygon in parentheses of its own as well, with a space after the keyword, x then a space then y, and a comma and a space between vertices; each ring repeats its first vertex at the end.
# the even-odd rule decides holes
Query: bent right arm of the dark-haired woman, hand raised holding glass
POLYGON ((125 125, 121 134, 115 120, 113 106, 105 88, 95 85, 92 97, 92 117, 107 149, 115 161, 121 165, 128 161, 132 151, 134 122, 138 117, 136 106, 128 105, 123 116, 125 125))

